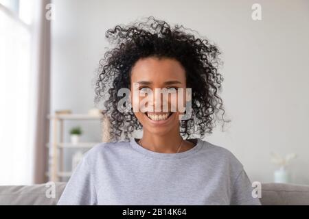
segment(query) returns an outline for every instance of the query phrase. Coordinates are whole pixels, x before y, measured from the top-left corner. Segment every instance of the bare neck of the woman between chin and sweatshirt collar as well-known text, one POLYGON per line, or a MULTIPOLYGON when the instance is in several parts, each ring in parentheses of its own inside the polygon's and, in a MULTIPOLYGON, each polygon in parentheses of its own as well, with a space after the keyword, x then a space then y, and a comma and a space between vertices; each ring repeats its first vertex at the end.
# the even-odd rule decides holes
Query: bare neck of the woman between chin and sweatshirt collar
POLYGON ((165 135, 155 135, 144 131, 141 144, 144 148, 158 153, 176 153, 183 138, 180 133, 167 133, 165 135))

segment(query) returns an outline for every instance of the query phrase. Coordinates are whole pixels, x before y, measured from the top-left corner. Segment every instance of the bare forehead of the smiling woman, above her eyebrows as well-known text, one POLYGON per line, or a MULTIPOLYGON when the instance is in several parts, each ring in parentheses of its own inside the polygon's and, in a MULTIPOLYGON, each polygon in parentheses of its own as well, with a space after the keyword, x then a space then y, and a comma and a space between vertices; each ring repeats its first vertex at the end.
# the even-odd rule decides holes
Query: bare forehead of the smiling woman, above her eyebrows
POLYGON ((185 69, 172 58, 146 57, 138 60, 132 68, 131 81, 163 82, 185 81, 185 69))

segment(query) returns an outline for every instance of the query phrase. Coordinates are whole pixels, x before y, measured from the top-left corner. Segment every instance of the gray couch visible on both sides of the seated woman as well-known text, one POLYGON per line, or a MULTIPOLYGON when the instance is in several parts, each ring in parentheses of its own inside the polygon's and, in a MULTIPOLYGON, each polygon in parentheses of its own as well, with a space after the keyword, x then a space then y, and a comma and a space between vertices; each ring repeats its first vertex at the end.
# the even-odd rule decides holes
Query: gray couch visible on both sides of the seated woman
MULTIPOLYGON (((0 205, 56 205, 66 183, 55 184, 47 198, 46 184, 0 186, 0 205)), ((50 190, 49 190, 50 191, 50 190)), ((262 205, 309 205, 309 185, 262 183, 262 205)))

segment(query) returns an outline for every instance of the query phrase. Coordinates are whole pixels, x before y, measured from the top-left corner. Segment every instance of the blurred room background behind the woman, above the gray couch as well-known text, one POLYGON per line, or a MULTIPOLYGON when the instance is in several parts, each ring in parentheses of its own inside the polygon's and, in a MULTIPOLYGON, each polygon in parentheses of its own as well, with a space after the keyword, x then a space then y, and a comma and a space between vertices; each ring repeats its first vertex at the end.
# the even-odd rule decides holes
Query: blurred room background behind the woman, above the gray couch
POLYGON ((146 16, 222 51, 231 123, 204 140, 251 181, 309 184, 309 1, 0 0, 0 185, 67 181, 104 141, 93 81, 105 31, 146 16))

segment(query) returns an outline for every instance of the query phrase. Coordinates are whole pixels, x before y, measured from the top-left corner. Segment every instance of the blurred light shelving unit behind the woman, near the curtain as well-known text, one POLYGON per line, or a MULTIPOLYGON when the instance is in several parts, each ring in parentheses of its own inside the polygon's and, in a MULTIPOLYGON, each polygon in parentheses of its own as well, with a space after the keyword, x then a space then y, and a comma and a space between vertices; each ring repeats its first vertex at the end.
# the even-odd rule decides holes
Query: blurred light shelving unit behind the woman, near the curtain
MULTIPOLYGON (((70 177, 71 172, 63 171, 63 149, 91 149, 95 144, 100 142, 79 142, 78 144, 71 144, 70 142, 63 142, 63 123, 65 120, 102 120, 101 128, 108 130, 108 120, 103 119, 102 114, 95 116, 89 114, 54 114, 48 115, 47 118, 52 123, 52 142, 48 142, 46 146, 49 148, 49 170, 46 173, 49 181, 60 181, 62 177, 70 177), (50 147, 52 149, 50 150, 50 147)), ((108 131, 105 133, 108 133, 108 131)), ((108 136, 102 136, 102 142, 108 141, 108 136)))

